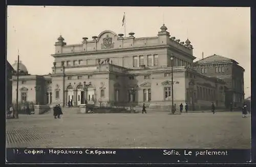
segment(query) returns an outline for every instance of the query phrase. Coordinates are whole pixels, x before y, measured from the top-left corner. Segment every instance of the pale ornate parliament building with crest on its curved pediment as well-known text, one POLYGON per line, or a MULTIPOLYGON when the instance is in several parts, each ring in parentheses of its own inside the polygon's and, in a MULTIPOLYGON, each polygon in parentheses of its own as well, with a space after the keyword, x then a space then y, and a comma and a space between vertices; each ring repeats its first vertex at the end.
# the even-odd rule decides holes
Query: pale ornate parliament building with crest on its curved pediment
MULTIPOLYGON (((55 42, 52 73, 44 76, 20 76, 19 101, 36 104, 95 106, 113 104, 135 106, 146 103, 150 108, 172 105, 172 65, 174 103, 187 103, 190 109, 204 109, 212 102, 225 106, 225 82, 207 77, 194 69, 193 46, 170 37, 165 25, 157 36, 136 38, 113 31, 103 31, 92 40, 83 37, 79 44, 67 44, 59 36, 55 42), (171 60, 170 57, 174 59, 171 60)), ((17 69, 17 64, 13 65, 17 69)), ((12 86, 16 85, 13 76, 12 86)), ((16 89, 13 89, 16 97, 16 89)), ((13 101, 15 98, 13 99, 13 101)))

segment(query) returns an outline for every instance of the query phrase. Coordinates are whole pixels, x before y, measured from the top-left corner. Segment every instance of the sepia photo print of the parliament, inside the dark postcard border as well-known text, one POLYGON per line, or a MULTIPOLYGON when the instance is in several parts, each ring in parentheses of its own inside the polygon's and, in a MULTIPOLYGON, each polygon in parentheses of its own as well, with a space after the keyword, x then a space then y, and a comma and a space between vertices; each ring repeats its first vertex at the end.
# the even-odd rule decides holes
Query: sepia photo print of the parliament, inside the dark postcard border
POLYGON ((7 148, 251 149, 249 7, 8 6, 7 148))

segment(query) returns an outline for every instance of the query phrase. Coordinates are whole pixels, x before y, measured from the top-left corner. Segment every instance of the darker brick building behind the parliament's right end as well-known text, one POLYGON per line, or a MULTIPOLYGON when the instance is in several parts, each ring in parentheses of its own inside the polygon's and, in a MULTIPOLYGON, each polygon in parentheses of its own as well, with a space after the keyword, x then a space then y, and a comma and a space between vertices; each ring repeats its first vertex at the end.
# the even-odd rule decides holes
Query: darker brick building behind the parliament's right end
POLYGON ((225 82, 226 108, 242 107, 244 102, 244 68, 235 60, 211 55, 194 63, 198 73, 225 82))

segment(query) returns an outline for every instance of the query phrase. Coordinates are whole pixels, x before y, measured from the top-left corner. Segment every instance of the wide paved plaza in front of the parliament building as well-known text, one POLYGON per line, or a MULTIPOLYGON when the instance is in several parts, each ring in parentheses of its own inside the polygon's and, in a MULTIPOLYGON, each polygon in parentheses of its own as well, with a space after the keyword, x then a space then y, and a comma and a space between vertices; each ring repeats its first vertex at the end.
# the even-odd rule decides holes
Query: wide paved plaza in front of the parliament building
POLYGON ((7 147, 250 148, 250 115, 241 112, 77 114, 63 109, 6 120, 7 147))

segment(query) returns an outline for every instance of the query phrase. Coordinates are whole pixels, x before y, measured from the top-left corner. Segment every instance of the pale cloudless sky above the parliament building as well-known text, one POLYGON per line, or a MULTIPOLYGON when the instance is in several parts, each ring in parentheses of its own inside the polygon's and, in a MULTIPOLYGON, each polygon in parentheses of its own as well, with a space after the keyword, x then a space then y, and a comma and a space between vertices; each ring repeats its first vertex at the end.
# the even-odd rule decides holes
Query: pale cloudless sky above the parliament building
POLYGON ((124 12, 126 34, 157 36, 164 23, 170 36, 191 41, 196 60, 204 52, 239 62, 245 68, 245 98, 250 96, 250 8, 245 7, 8 6, 7 60, 13 64, 19 52, 30 74, 49 74, 60 34, 67 44, 78 44, 104 30, 124 33, 124 12))

